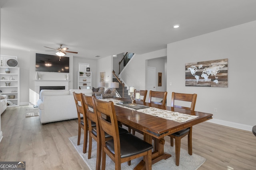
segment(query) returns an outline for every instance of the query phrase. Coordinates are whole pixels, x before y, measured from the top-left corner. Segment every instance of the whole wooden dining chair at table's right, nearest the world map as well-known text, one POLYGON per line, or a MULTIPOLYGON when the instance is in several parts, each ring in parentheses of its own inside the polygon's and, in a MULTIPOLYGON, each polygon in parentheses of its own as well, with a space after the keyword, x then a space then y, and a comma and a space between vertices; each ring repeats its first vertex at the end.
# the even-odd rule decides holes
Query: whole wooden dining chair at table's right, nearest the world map
MULTIPOLYGON (((171 100, 171 107, 178 107, 182 109, 192 110, 194 111, 196 106, 196 97, 197 94, 184 94, 184 93, 175 93, 172 92, 172 100, 171 100), (184 101, 189 102, 190 107, 186 106, 178 106, 174 104, 174 101, 184 101)), ((183 103, 184 104, 184 103, 183 103)), ((180 103, 181 105, 181 103, 180 103)), ((176 155, 176 166, 180 165, 180 143, 181 139, 188 135, 188 154, 192 155, 192 127, 182 129, 176 133, 173 133, 170 136, 171 146, 173 147, 173 139, 175 139, 175 155, 176 155)))

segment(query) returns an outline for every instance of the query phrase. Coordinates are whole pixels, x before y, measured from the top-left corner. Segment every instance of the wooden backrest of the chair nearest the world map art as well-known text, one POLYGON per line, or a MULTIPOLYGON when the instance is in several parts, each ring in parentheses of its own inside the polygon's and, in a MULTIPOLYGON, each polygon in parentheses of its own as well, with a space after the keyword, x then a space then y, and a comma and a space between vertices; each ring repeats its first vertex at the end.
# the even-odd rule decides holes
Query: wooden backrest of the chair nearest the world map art
POLYGON ((196 98, 197 98, 197 94, 185 94, 185 93, 175 93, 175 92, 172 92, 171 107, 178 107, 178 108, 194 111, 195 110, 195 106, 196 106, 196 98), (191 102, 191 106, 190 107, 185 107, 185 106, 175 105, 174 104, 175 100, 191 102))

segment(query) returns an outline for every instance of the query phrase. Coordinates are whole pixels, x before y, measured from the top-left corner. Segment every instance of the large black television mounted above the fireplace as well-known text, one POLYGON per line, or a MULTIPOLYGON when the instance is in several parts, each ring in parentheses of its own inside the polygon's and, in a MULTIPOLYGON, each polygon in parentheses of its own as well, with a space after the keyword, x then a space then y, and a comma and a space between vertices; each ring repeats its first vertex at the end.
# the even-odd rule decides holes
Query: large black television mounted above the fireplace
POLYGON ((69 57, 36 53, 36 71, 69 72, 69 57))

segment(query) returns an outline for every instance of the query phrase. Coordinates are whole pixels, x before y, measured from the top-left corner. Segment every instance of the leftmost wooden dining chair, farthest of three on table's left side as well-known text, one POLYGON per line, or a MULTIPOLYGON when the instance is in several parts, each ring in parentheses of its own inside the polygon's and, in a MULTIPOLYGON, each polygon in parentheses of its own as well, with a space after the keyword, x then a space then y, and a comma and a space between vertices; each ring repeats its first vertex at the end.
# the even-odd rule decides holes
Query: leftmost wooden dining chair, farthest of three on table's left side
MULTIPOLYGON (((82 93, 73 92, 75 103, 76 103, 76 110, 78 115, 78 140, 77 145, 80 145, 80 138, 81 138, 81 128, 84 130, 84 146, 83 146, 83 153, 86 153, 87 150, 87 134, 88 134, 88 120, 86 115, 86 110, 84 106, 84 102, 82 100, 82 93), (83 116, 83 119, 81 117, 83 116)), ((96 126, 95 122, 90 123, 91 126, 96 126)))

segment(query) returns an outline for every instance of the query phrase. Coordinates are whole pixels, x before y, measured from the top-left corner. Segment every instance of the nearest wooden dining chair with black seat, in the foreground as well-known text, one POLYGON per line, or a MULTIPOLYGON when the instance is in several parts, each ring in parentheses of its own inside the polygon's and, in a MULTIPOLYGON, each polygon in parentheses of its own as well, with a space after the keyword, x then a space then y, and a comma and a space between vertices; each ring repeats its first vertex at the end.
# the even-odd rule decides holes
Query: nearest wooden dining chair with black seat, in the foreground
POLYGON ((108 133, 113 137, 106 141, 105 136, 101 135, 102 170, 105 170, 106 154, 115 162, 116 170, 121 169, 121 163, 141 156, 144 157, 146 169, 151 170, 152 145, 130 133, 119 135, 114 103, 112 101, 100 101, 96 98, 94 98, 94 102, 100 125, 100 134, 108 133), (105 117, 110 117, 110 121, 107 121, 105 117))

